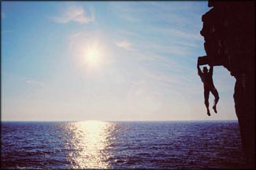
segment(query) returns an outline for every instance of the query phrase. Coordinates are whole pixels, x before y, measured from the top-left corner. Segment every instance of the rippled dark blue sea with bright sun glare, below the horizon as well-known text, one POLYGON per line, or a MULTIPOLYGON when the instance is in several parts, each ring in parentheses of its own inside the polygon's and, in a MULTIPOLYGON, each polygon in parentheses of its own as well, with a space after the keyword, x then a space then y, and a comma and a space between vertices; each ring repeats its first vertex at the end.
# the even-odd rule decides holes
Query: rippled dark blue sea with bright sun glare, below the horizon
POLYGON ((237 121, 1 123, 1 168, 244 166, 237 121))

